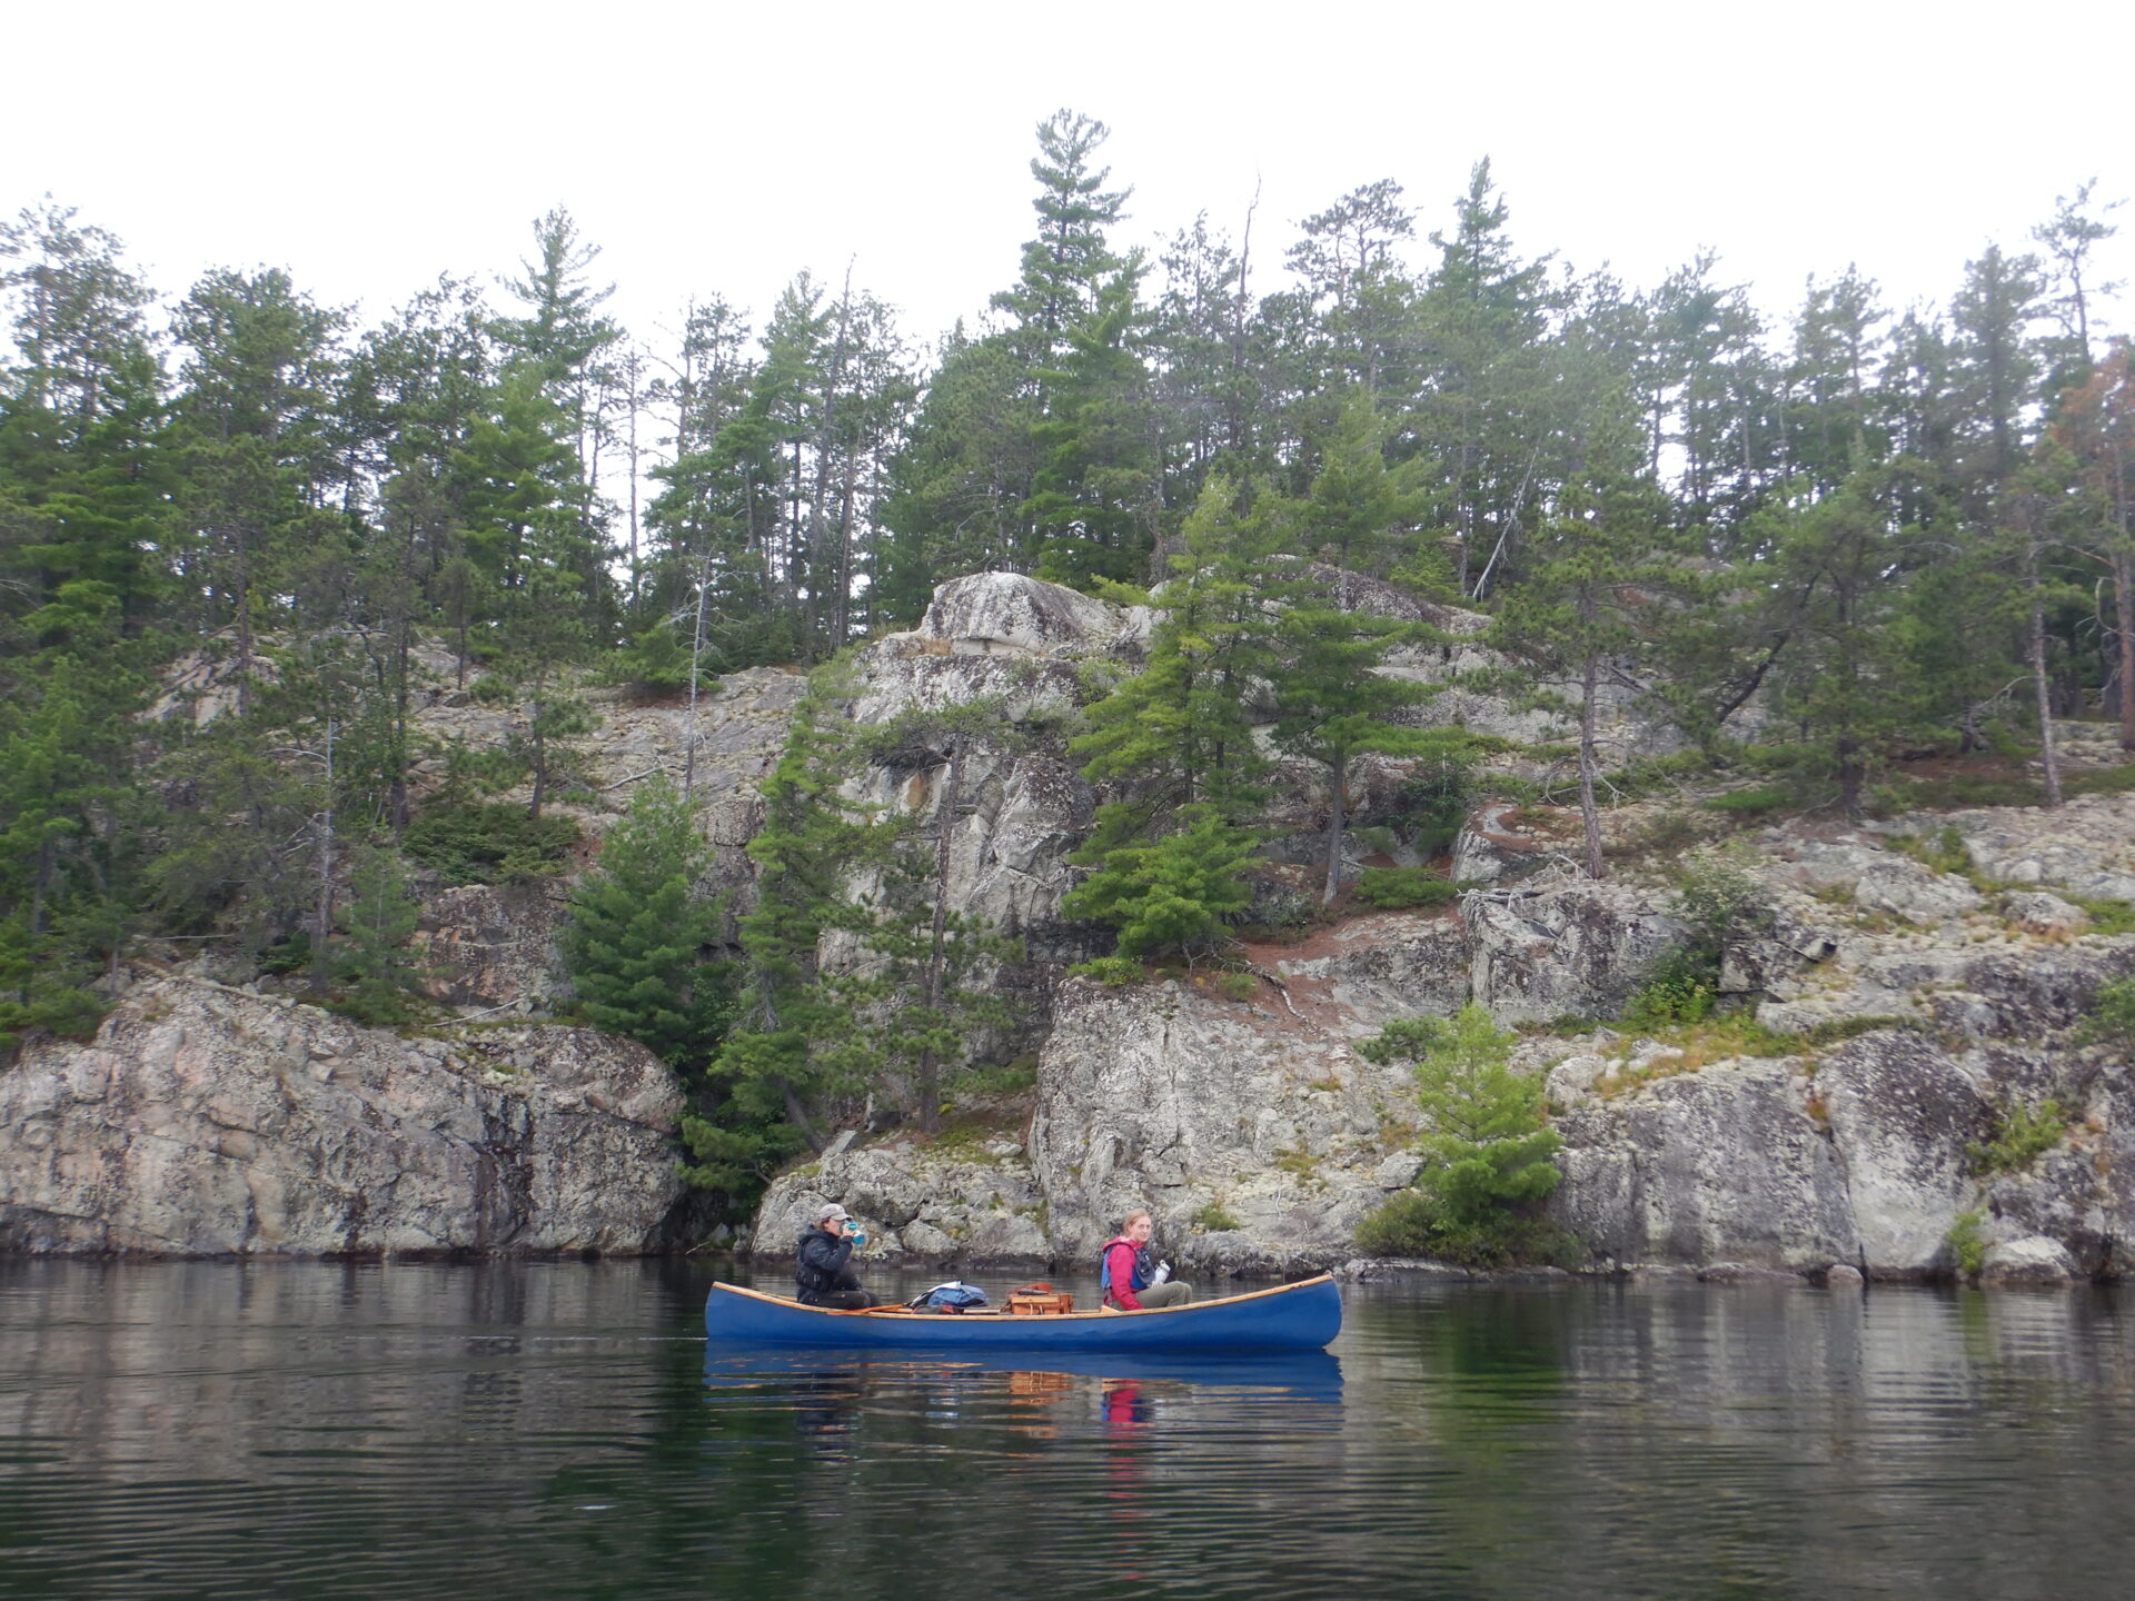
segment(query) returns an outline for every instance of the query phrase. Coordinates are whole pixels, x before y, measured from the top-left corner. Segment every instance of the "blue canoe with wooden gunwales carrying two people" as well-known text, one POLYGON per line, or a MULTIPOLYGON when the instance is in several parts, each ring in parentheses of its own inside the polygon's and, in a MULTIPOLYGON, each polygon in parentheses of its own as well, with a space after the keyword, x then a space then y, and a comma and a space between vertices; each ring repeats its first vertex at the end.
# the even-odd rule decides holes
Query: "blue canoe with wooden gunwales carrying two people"
POLYGON ((1245 1296, 1140 1313, 1012 1315, 873 1306, 839 1313, 715 1283, 705 1338, 724 1345, 818 1345, 871 1351, 1317 1351, 1341 1332, 1341 1289, 1328 1274, 1245 1296))

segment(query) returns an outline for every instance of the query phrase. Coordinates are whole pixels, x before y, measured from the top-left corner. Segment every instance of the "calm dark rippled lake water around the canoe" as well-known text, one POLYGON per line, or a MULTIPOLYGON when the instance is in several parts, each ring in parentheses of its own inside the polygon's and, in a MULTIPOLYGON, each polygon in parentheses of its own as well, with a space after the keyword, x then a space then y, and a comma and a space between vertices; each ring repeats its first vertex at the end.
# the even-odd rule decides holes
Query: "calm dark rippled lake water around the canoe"
POLYGON ((2129 1291, 1360 1285, 1198 1377, 707 1360, 709 1279, 0 1262, 0 1597, 2135 1592, 2129 1291))

